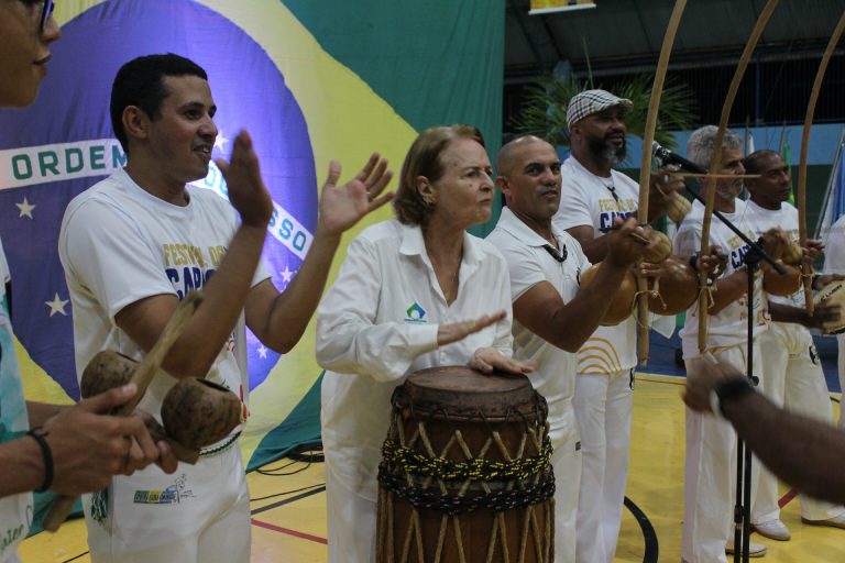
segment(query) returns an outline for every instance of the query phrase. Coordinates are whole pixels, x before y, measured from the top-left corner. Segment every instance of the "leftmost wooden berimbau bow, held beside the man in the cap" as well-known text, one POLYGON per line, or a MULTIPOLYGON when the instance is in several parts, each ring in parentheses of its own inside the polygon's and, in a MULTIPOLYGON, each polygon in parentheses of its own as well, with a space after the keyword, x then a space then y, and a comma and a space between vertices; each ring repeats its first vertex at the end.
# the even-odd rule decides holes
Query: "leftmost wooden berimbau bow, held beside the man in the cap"
MULTIPOLYGON (((687 0, 677 0, 672 14, 669 18, 669 25, 663 35, 663 45, 660 48, 660 58, 657 62, 655 71, 655 81, 651 85, 651 98, 648 102, 648 114, 646 117, 646 130, 643 135, 643 159, 639 165, 639 207, 637 219, 639 224, 648 222, 648 191, 651 179, 651 143, 655 141, 655 129, 657 129, 657 114, 660 109, 660 96, 663 92, 663 82, 666 80, 666 70, 669 67, 669 56, 672 53, 674 35, 681 23, 681 15, 687 8, 687 0)), ((646 365, 648 361, 648 280, 644 277, 637 278, 637 360, 639 365, 646 365)))

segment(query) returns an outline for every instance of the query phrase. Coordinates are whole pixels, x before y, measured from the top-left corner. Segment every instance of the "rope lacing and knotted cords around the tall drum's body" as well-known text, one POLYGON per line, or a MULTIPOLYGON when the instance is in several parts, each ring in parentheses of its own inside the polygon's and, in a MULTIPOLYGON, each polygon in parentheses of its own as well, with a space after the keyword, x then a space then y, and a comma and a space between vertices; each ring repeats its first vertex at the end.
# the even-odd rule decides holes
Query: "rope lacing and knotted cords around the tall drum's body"
MULTIPOLYGON (((512 549, 508 545, 511 534, 507 532, 509 526, 506 523, 505 515, 513 508, 520 508, 525 511, 519 517, 522 529, 517 532, 518 544, 515 547, 515 553, 513 553, 516 558, 514 561, 524 563, 530 560, 549 563, 552 560, 553 549, 550 545, 553 534, 555 476, 550 466, 549 424, 546 421, 545 399, 536 394, 535 397, 539 399, 537 402, 541 406, 538 407, 535 404, 531 409, 533 412, 528 415, 518 409, 508 410, 504 418, 491 418, 478 410, 452 412, 452 416, 461 421, 481 420, 482 426, 487 430, 487 438, 483 445, 476 453, 473 453, 464 440, 462 430, 457 428, 449 412, 442 408, 437 408, 434 411, 416 409, 414 401, 400 388, 394 391, 392 399, 394 411, 387 435, 389 444, 385 444, 385 449, 389 455, 395 454, 395 457, 392 457, 391 461, 382 461, 378 465, 378 482, 381 484, 378 493, 380 523, 376 533, 378 561, 407 563, 414 556, 411 553, 416 552, 416 561, 440 562, 445 555, 448 529, 451 527, 454 529, 453 541, 457 549, 457 561, 469 563, 468 554, 470 552, 467 551, 469 545, 464 545, 464 539, 468 538, 463 538, 461 532, 461 522, 464 516, 461 515, 480 509, 493 511, 493 526, 485 550, 485 561, 493 561, 498 550, 504 558, 502 561, 512 561, 512 549), (422 416, 419 417, 418 415, 422 416), (528 420, 530 415, 533 415, 533 420, 528 420), (522 419, 525 431, 518 440, 518 444, 514 444, 516 452, 512 455, 495 427, 501 424, 503 420, 507 422, 517 418, 522 419), (405 422, 407 419, 413 422, 407 429, 411 433, 410 437, 406 437, 405 422), (445 422, 450 431, 449 439, 440 452, 435 451, 426 428, 426 423, 432 419, 445 422), (420 445, 417 445, 418 442, 420 445), (526 453, 527 445, 537 454, 529 459, 533 461, 520 461, 526 453), (413 448, 415 446, 425 450, 427 456, 414 451, 413 448), (484 456, 491 448, 497 450, 505 462, 486 462, 484 456), (447 459, 446 455, 452 449, 458 449, 467 461, 447 459), (513 463, 514 461, 517 463, 513 463), (399 467, 403 468, 399 470, 399 467), (445 470, 443 474, 438 475, 434 471, 435 467, 445 470), (528 470, 527 476, 522 479, 498 481, 492 477, 490 481, 484 479, 494 471, 498 471, 502 475, 522 476, 524 473, 519 471, 520 468, 528 470), (400 473, 393 474, 392 471, 394 470, 399 470, 400 473), (419 472, 415 473, 414 470, 419 470, 419 472), (453 477, 451 482, 443 478, 464 471, 468 475, 479 478, 461 479, 453 477), (396 536, 398 530, 395 530, 393 525, 395 498, 403 498, 413 507, 409 526, 404 538, 396 536), (436 545, 432 547, 434 551, 428 553, 428 550, 424 548, 420 509, 432 509, 441 514, 436 545), (398 551, 394 551, 395 549, 398 551)), ((479 555, 481 553, 475 553, 474 558, 479 555)))

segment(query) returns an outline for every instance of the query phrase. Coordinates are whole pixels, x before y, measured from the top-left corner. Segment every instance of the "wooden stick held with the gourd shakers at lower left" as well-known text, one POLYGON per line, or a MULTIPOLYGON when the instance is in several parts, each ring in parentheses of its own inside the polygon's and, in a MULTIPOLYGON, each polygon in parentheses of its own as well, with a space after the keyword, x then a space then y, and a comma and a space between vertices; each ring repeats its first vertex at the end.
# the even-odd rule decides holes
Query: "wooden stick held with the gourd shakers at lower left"
MULTIPOLYGON (((132 373, 131 380, 138 386, 138 391, 132 399, 117 409, 117 416, 128 417, 134 412, 135 407, 153 380, 153 376, 162 365, 165 354, 171 350, 176 339, 179 338, 179 334, 182 334, 183 329, 194 316, 200 302, 202 302, 202 294, 194 291, 188 294, 176 307, 155 345, 153 345, 152 350, 150 350, 132 373)), ((67 520, 70 510, 74 509, 74 503, 76 503, 76 497, 69 495, 61 495, 56 498, 53 506, 50 507, 46 518, 44 518, 44 529, 51 532, 58 530, 62 523, 67 520)))

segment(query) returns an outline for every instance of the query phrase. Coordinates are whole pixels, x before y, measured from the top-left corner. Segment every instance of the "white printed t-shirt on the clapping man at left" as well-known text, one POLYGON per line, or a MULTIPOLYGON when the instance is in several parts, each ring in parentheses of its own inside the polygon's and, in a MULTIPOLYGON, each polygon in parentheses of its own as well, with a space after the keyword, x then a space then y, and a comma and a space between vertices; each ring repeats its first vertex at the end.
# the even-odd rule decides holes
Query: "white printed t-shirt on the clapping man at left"
MULTIPOLYGON (((213 191, 188 188, 187 206, 168 203, 138 186, 120 169, 73 199, 65 210, 58 255, 74 314, 77 376, 101 350, 134 360, 141 347, 114 323, 128 305, 154 295, 200 289, 213 275, 238 229, 232 206, 213 191)), ((262 265, 252 284, 266 279, 262 265)), ((243 312, 207 379, 246 402, 249 380, 243 312)), ((158 416, 176 383, 161 371, 140 408, 158 416)))

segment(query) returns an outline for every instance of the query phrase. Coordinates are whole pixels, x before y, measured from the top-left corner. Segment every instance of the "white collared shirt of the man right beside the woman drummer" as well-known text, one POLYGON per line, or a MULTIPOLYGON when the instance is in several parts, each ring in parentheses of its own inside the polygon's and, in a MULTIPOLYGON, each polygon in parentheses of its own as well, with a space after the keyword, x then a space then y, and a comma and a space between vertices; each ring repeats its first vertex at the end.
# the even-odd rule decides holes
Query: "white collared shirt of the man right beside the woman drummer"
MULTIPOLYGON (((505 256, 511 273, 511 299, 516 301, 528 289, 548 282, 558 290, 563 302, 571 301, 580 288, 581 272, 590 267, 581 245, 566 231, 552 225, 563 262, 558 262, 544 247, 549 243, 522 222, 509 209, 503 208, 498 223, 487 241, 505 256)), ((550 430, 563 419, 575 393, 575 354, 567 352, 541 339, 514 319, 514 357, 535 362, 536 372, 528 374, 537 391, 549 405, 550 430)))

